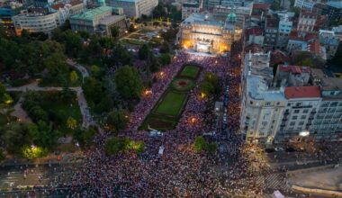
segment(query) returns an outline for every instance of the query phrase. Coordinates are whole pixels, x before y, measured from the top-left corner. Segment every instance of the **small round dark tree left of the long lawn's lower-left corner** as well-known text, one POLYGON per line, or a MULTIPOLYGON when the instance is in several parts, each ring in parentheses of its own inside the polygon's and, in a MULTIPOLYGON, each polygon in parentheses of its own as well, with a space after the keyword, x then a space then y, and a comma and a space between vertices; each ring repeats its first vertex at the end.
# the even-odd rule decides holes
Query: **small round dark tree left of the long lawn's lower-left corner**
POLYGON ((128 113, 123 110, 113 110, 107 116, 107 124, 114 130, 123 130, 130 121, 128 113))

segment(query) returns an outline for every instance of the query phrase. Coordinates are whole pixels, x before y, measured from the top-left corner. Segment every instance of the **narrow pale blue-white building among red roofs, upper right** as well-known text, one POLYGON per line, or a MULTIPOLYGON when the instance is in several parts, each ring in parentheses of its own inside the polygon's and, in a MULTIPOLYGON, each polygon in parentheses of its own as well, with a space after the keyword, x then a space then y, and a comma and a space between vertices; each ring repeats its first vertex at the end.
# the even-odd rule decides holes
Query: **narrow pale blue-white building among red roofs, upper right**
POLYGON ((289 40, 290 37, 290 32, 293 30, 293 22, 289 21, 289 18, 287 15, 284 16, 279 21, 279 26, 278 26, 278 35, 277 35, 277 41, 276 41, 276 46, 278 48, 286 48, 287 46, 287 41, 289 40))

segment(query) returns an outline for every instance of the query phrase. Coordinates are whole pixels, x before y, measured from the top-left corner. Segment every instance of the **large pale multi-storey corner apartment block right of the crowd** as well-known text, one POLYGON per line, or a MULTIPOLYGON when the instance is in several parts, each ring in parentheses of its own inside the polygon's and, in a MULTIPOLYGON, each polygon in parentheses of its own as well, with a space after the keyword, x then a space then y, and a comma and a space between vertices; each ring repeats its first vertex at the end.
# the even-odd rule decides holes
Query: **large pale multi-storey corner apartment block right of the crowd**
POLYGON ((246 53, 240 129, 246 142, 271 144, 342 137, 342 79, 321 69, 281 65, 269 54, 246 53))

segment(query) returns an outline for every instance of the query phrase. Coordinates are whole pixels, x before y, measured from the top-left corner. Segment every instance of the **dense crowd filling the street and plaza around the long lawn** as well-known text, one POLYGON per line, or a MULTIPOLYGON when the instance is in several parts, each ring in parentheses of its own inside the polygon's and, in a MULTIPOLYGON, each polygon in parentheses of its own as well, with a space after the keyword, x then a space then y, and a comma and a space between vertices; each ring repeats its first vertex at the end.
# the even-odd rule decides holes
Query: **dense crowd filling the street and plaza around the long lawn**
MULTIPOLYGON (((148 95, 143 97, 130 114, 129 127, 123 132, 132 139, 142 139, 145 151, 137 155, 133 151, 116 157, 107 157, 101 145, 107 134, 95 139, 98 148, 88 151, 84 168, 76 171, 71 185, 76 197, 154 197, 154 196, 214 196, 231 193, 261 193, 255 184, 256 177, 249 171, 250 161, 239 155, 244 149, 238 131, 239 119, 239 72, 241 47, 235 46, 229 58, 202 56, 186 52, 179 53, 170 65, 154 74, 154 83, 148 95), (220 130, 228 134, 236 151, 233 162, 219 156, 197 153, 193 150, 193 139, 204 132, 214 130, 213 98, 202 98, 198 83, 186 103, 184 112, 175 130, 168 130, 158 138, 148 137, 148 131, 139 131, 139 124, 153 108, 173 76, 185 63, 202 66, 199 82, 206 72, 220 77, 222 91, 229 85, 229 127, 220 130), (158 154, 163 146, 165 151, 158 154)), ((220 139, 219 139, 220 141, 220 139)))

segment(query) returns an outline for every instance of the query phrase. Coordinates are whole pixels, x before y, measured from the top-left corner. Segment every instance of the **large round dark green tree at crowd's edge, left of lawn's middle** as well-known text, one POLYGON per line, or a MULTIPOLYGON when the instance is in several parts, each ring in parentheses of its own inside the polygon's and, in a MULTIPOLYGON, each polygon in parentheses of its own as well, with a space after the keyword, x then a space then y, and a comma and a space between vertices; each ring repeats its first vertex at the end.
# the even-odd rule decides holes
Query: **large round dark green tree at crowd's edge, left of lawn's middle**
POLYGON ((136 67, 124 66, 115 72, 115 85, 125 99, 139 99, 143 84, 136 67))

